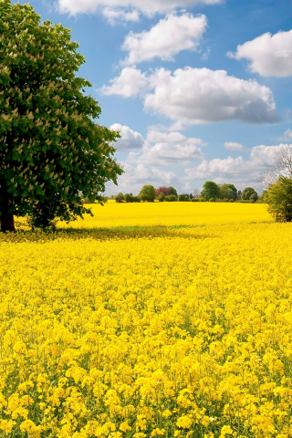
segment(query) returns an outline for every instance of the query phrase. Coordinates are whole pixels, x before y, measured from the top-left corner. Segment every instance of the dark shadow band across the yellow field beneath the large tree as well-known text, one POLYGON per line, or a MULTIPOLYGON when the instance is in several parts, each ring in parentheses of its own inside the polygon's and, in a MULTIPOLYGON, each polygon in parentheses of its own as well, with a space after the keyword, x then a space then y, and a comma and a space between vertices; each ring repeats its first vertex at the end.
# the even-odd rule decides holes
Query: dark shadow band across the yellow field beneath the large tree
POLYGON ((202 239, 214 237, 204 232, 204 225, 175 225, 175 226, 118 226, 115 228, 58 228, 56 231, 26 231, 19 230, 17 233, 0 234, 1 242, 21 243, 37 242, 46 243, 54 240, 81 240, 93 239, 106 240, 127 240, 127 239, 152 239, 158 237, 184 239, 202 239))

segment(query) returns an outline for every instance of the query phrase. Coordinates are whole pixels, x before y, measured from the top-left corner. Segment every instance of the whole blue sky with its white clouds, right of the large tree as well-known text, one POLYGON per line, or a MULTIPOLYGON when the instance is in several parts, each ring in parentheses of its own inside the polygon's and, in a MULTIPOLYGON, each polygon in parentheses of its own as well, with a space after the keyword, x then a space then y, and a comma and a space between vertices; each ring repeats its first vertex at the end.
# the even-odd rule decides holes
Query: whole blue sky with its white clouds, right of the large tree
POLYGON ((292 143, 292 0, 31 0, 72 29, 125 173, 180 193, 255 186, 292 143))

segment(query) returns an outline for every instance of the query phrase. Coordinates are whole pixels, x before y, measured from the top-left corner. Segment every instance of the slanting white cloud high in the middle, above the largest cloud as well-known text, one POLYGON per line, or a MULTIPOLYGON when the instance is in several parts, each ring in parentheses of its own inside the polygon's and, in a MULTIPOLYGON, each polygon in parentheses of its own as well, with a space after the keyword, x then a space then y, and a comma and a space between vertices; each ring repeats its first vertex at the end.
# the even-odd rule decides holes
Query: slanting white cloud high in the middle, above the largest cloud
POLYGON ((149 32, 130 32, 126 36, 121 48, 129 55, 122 64, 138 64, 154 57, 170 61, 182 50, 196 50, 206 26, 206 16, 169 14, 151 27, 149 32))

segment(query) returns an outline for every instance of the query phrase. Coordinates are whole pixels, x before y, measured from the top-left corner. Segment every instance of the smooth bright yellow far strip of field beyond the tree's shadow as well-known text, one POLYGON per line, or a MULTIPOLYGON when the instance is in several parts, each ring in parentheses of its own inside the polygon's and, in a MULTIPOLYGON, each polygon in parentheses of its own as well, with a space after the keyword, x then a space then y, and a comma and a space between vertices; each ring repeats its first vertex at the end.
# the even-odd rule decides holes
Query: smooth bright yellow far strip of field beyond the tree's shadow
MULTIPOLYGON (((69 226, 74 228, 133 225, 201 225, 271 222, 264 204, 253 203, 115 203, 92 208, 94 217, 85 216, 69 226)), ((64 226, 60 224, 60 226, 64 226)))

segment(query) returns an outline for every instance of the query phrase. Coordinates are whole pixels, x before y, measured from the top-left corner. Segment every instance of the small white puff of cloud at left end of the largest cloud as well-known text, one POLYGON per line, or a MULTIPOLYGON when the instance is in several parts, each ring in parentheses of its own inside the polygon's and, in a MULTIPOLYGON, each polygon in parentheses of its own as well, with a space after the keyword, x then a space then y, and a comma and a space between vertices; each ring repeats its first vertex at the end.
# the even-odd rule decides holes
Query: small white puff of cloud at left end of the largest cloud
POLYGON ((145 91, 147 89, 148 78, 146 78, 146 73, 141 73, 141 70, 135 67, 127 67, 121 70, 120 76, 110 79, 110 84, 112 85, 104 85, 100 89, 101 94, 131 98, 140 94, 142 90, 145 91))

